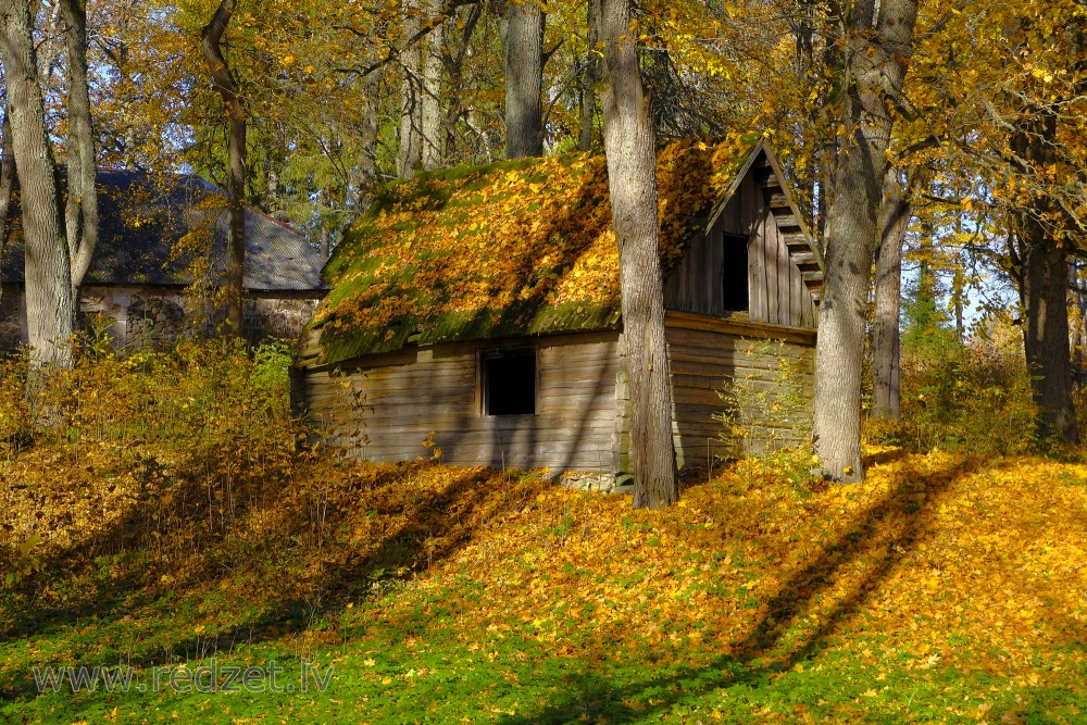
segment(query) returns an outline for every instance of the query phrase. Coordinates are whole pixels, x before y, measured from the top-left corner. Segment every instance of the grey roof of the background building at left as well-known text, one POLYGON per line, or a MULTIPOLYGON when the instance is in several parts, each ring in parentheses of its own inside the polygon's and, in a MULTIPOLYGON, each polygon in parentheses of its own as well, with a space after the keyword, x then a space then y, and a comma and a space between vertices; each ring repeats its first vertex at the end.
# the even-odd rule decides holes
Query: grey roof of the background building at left
MULTIPOLYGON (((85 284, 186 285, 191 254, 172 259, 183 237, 214 230, 212 259, 222 260, 229 226, 223 191, 199 176, 99 170, 99 241, 85 284)), ((23 228, 17 191, 0 280, 23 280, 23 228)), ((205 237, 207 238, 207 237, 205 237)), ((246 209, 246 288, 251 291, 324 289, 321 255, 305 236, 246 209)))

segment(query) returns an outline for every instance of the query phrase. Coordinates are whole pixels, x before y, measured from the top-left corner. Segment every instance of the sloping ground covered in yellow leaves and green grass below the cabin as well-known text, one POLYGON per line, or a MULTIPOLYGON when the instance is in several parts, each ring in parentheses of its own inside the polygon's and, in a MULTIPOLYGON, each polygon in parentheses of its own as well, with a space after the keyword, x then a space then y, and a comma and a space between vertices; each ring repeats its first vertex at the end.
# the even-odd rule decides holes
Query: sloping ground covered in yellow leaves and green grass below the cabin
POLYGON ((250 538, 243 570, 160 576, 128 551, 4 595, 0 722, 1085 722, 1087 468, 884 458, 817 490, 745 464, 664 512, 527 476, 327 464, 320 497, 285 489, 239 518, 324 501, 297 555, 250 538), (36 697, 29 673, 211 655, 295 683, 305 657, 333 680, 36 697))

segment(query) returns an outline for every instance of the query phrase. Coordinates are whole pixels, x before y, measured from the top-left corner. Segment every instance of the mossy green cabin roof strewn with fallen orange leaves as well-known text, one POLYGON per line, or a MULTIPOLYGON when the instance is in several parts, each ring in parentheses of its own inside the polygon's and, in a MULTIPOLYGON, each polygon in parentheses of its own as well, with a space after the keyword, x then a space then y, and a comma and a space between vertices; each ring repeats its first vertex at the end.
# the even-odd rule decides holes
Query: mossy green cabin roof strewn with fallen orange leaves
MULTIPOLYGON (((658 154, 661 262, 735 191, 758 135, 658 154)), ((391 185, 325 267, 313 326, 318 363, 409 341, 485 339, 613 326, 619 252, 602 155, 520 159, 391 185)))

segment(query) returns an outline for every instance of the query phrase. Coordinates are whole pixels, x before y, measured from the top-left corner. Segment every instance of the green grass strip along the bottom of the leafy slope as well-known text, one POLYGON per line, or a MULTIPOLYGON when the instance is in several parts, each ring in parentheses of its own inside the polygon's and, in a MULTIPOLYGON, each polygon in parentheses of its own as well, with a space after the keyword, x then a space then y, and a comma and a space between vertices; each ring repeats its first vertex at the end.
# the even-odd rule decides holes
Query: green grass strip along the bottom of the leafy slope
MULTIPOLYGON (((214 590, 143 605, 120 601, 9 639, 0 671, 7 700, 0 718, 513 724, 940 723, 1007 716, 1003 722, 1040 724, 1083 722, 1087 709, 1087 698, 1072 685, 1087 672, 1064 673, 1064 684, 1033 685, 1047 670, 1039 659, 1022 678, 966 674, 919 660, 878 636, 814 652, 789 668, 722 657, 712 647, 638 641, 601 647, 576 634, 565 645, 571 653, 559 655, 530 626, 510 632, 473 627, 470 613, 443 607, 447 598, 462 600, 463 595, 437 591, 422 598, 409 584, 311 622, 301 608, 274 612, 214 590), (413 605, 404 608, 405 599, 413 605), (208 623, 199 634, 197 622, 208 623), (303 658, 317 667, 318 677, 330 676, 324 692, 315 691, 312 673, 308 691, 300 691, 303 658), (278 686, 299 691, 111 693, 100 686, 93 692, 73 695, 65 687, 35 696, 29 667, 60 662, 132 662, 138 665, 135 682, 145 685, 153 666, 184 662, 192 671, 276 662, 285 670, 278 686)), ((205 690, 210 682, 203 678, 205 690)))

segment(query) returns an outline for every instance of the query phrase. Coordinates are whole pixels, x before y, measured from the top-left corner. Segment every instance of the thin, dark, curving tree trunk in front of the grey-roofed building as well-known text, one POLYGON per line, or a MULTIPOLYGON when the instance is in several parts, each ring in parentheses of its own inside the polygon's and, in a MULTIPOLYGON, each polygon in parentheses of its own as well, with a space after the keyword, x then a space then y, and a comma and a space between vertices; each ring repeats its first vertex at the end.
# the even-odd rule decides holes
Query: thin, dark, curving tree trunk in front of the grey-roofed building
POLYGON ((235 0, 222 0, 211 22, 200 34, 204 60, 215 90, 223 97, 228 127, 230 175, 226 184, 230 211, 230 238, 226 245, 226 325, 230 334, 241 335, 246 268, 246 109, 238 84, 223 55, 223 34, 234 16, 235 0))

